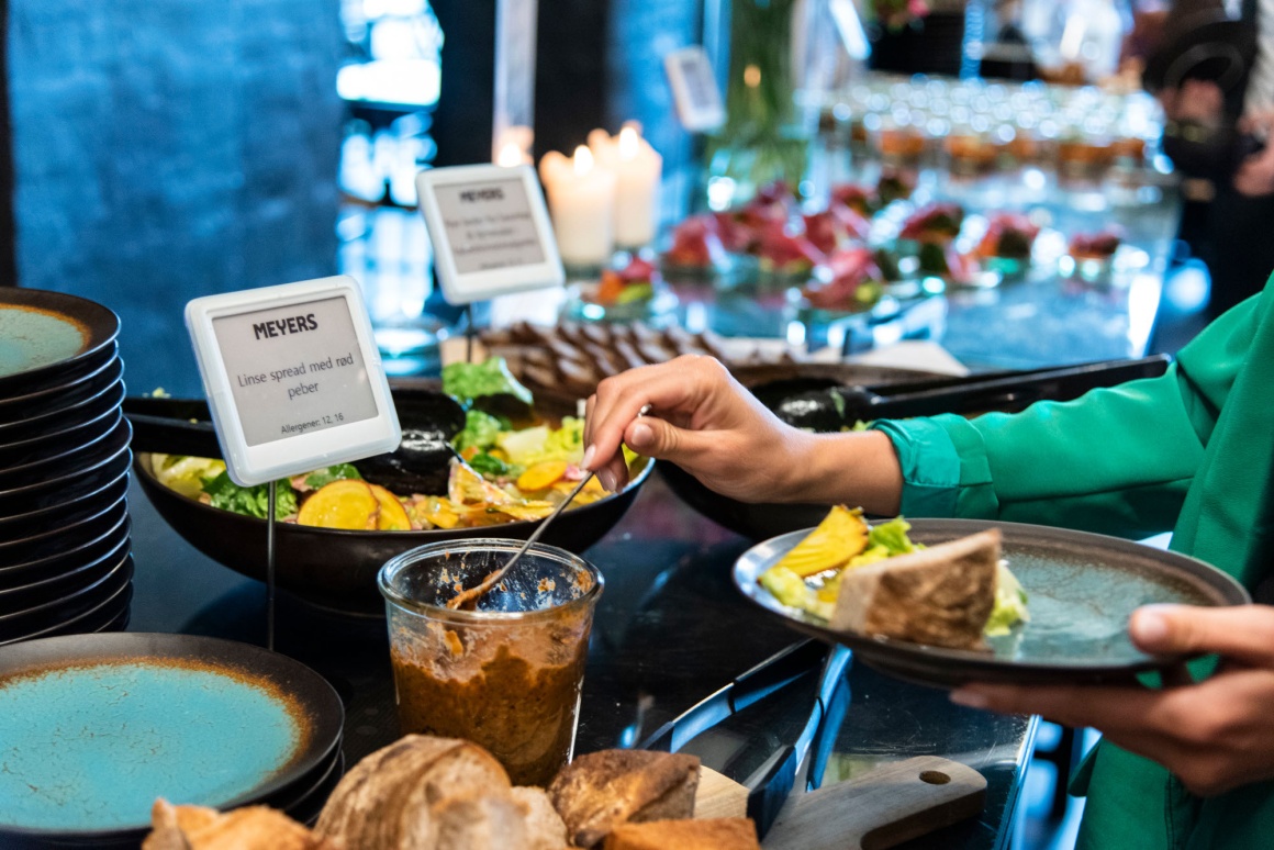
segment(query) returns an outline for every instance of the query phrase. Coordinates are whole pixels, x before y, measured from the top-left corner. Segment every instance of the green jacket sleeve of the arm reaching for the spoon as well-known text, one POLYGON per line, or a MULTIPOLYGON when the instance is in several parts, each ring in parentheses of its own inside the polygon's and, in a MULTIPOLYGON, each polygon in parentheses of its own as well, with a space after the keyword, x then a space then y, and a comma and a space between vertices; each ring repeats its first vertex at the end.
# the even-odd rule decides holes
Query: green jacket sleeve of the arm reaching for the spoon
POLYGON ((882 421, 902 514, 1143 538, 1172 529, 1257 324, 1257 298, 1209 325, 1162 377, 977 419, 882 421))

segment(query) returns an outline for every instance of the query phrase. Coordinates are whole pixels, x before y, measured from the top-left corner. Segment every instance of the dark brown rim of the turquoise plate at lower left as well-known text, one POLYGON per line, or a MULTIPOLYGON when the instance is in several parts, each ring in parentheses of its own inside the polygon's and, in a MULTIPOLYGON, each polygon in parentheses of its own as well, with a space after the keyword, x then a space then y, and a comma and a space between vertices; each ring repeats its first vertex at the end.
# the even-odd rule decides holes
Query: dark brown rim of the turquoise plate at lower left
MULTIPOLYGON (((269 796, 270 794, 288 788, 297 777, 310 774, 317 767, 324 756, 329 754, 333 740, 340 740, 345 721, 345 707, 335 688, 313 669, 301 661, 282 652, 229 641, 220 637, 205 637, 201 635, 168 635, 161 632, 116 632, 93 635, 64 635, 42 638, 38 641, 24 641, 19 646, 9 647, 3 654, 0 661, 0 679, 28 669, 48 666, 51 660, 39 658, 42 654, 55 654, 61 646, 50 646, 52 641, 64 642, 68 652, 74 658, 65 658, 68 664, 84 663, 97 659, 111 658, 141 658, 144 659, 197 659, 208 661, 217 659, 222 666, 251 670, 261 678, 269 678, 280 686, 287 693, 297 700, 298 707, 310 723, 310 739, 306 742, 307 752, 298 753, 292 762, 284 765, 270 781, 262 782, 247 794, 219 803, 219 809, 232 809, 246 805, 254 799, 269 796), (129 647, 138 647, 131 652, 129 647), (23 655, 34 655, 29 663, 19 664, 14 659, 23 655), (304 686, 304 687, 299 687, 304 686)), ((147 830, 149 825, 121 826, 111 830, 37 830, 31 827, 17 827, 0 825, 0 836, 20 836, 32 839, 65 839, 65 840, 110 840, 136 833, 138 830, 147 830)))

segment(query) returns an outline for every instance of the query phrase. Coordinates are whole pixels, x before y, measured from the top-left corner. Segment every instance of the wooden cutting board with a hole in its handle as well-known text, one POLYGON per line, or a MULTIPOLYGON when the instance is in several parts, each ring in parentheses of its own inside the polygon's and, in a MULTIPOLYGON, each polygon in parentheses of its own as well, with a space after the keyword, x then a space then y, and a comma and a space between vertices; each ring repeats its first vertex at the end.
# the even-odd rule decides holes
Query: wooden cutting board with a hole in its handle
MULTIPOLYGON (((973 817, 986 779, 936 756, 880 765, 856 779, 787 799, 764 850, 883 850, 973 817)), ((705 767, 694 816, 747 817, 748 789, 705 767)))

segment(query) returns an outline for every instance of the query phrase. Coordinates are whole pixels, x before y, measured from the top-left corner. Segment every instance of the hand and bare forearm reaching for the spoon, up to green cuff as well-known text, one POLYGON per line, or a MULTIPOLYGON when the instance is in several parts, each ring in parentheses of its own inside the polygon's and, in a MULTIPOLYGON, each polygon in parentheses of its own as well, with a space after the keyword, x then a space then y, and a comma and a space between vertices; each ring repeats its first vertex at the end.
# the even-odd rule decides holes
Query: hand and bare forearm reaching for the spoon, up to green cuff
POLYGON ((902 493, 884 433, 792 428, 711 357, 688 354, 599 384, 585 414, 583 465, 610 491, 628 480, 622 443, 741 501, 843 502, 891 515, 902 493))

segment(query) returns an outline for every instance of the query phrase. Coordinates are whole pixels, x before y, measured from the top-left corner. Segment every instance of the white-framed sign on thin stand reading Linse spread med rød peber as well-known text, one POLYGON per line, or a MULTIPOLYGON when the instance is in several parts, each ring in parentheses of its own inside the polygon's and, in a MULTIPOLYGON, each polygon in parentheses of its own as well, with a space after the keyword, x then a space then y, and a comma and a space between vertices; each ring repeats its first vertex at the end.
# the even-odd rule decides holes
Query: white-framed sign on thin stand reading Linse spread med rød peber
POLYGON ((278 480, 403 441, 358 283, 349 277, 186 305, 208 408, 240 487, 266 484, 265 642, 275 642, 278 480))

